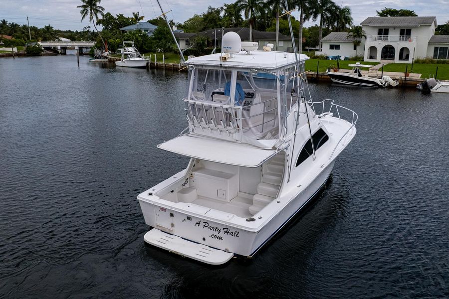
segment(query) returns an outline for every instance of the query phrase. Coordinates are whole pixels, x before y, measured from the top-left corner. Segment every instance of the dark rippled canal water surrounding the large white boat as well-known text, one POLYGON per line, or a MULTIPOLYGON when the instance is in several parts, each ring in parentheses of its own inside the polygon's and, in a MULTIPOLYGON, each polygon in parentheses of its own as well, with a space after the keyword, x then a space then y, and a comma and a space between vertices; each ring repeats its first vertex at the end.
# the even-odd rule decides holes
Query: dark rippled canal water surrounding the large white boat
POLYGON ((316 202, 253 260, 144 244, 139 192, 181 170, 186 74, 0 59, 0 297, 449 297, 445 95, 310 84, 358 133, 316 202))

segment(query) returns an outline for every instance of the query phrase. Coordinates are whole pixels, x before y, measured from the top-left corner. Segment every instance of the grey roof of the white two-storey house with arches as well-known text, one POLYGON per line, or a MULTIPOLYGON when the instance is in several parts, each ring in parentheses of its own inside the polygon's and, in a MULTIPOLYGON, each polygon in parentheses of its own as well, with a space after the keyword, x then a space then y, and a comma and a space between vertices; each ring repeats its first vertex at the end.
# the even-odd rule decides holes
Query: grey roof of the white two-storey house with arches
POLYGON ((436 16, 370 16, 360 24, 368 26, 419 27, 420 25, 431 25, 436 19, 436 16))

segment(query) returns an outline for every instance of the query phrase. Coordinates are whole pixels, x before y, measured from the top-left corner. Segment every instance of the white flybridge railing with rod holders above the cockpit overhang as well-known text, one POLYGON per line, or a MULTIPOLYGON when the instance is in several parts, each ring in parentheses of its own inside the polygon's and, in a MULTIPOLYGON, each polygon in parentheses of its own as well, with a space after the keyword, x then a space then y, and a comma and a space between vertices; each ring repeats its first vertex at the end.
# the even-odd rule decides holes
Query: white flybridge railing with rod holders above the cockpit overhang
MULTIPOLYGON (((252 139, 277 139, 277 98, 246 106, 230 106, 225 103, 183 99, 189 123, 197 133, 217 132, 215 137, 225 134, 226 139, 242 141, 243 136, 252 139), (274 132, 276 131, 276 132, 274 132), (241 133, 233 135, 233 133, 241 133)), ((210 135, 210 134, 208 134, 210 135)))

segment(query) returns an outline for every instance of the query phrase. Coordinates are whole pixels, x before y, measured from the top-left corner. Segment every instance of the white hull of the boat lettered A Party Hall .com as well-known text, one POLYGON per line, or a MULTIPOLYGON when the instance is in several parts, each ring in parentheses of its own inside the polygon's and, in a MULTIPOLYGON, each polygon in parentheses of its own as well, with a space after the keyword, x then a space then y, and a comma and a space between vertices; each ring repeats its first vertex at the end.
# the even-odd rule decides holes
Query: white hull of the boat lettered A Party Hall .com
POLYGON ((335 161, 329 163, 307 187, 290 200, 283 198, 288 203, 264 226, 255 230, 233 227, 195 213, 177 210, 172 202, 166 201, 165 205, 160 202, 151 203, 139 197, 138 200, 145 222, 151 227, 211 248, 252 257, 318 194, 329 178, 334 163, 335 161))

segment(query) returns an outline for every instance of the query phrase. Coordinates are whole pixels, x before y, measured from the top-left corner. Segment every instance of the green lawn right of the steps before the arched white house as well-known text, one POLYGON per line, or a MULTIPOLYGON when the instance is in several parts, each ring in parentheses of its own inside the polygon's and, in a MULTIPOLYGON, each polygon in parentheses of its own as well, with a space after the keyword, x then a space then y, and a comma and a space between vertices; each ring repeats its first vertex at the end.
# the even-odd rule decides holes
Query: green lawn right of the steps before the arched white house
POLYGON ((384 66, 384 71, 405 72, 406 66, 409 73, 422 74, 421 78, 434 77, 438 66, 437 79, 449 80, 449 64, 414 63, 412 69, 411 63, 389 63, 384 66))

